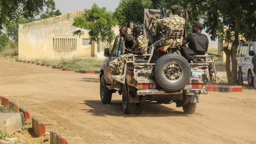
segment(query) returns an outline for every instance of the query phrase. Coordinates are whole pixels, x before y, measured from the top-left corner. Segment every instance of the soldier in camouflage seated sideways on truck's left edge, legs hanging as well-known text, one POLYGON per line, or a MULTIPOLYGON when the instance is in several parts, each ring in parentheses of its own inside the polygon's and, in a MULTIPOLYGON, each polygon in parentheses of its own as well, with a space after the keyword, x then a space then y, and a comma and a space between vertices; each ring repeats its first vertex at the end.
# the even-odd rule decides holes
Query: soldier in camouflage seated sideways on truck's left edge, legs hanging
MULTIPOLYGON (((134 34, 135 38, 136 38, 136 51, 132 51, 129 48, 127 49, 128 54, 124 54, 124 55, 120 55, 117 59, 118 61, 118 65, 117 67, 117 71, 118 71, 118 75, 112 75, 113 78, 119 78, 122 74, 123 74, 123 70, 124 70, 124 61, 126 60, 126 58, 128 57, 128 55, 143 55, 143 54, 147 54, 148 51, 148 39, 145 38, 145 36, 141 35, 141 28, 139 27, 134 27, 132 30, 132 33, 134 34)), ((135 57, 135 60, 144 60, 145 57, 135 57)), ((132 57, 128 58, 128 61, 131 61, 132 57)), ((113 67, 113 66, 111 66, 113 67)))

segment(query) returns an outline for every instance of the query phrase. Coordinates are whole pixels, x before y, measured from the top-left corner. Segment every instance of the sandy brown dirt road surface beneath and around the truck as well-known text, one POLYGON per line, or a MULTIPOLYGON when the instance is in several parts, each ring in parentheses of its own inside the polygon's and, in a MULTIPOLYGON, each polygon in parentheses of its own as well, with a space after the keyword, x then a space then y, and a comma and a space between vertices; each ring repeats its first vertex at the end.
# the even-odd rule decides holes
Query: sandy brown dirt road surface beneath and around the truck
POLYGON ((201 95, 195 114, 183 114, 176 104, 150 102, 126 115, 121 95, 114 93, 111 104, 102 104, 99 87, 98 74, 0 58, 0 95, 69 144, 256 143, 254 89, 201 95))

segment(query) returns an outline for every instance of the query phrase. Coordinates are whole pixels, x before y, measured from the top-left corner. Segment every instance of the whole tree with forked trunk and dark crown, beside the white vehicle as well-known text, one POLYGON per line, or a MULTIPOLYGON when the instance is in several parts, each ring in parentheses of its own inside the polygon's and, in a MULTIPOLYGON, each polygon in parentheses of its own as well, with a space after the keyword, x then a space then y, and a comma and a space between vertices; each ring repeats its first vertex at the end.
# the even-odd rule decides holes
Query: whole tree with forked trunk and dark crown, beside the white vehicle
POLYGON ((226 72, 228 84, 235 85, 237 79, 236 48, 239 38, 256 40, 256 2, 251 0, 201 0, 206 32, 211 40, 219 37, 226 44, 226 72), (228 47, 231 44, 231 47, 228 47), (230 71, 230 55, 232 71, 230 71))

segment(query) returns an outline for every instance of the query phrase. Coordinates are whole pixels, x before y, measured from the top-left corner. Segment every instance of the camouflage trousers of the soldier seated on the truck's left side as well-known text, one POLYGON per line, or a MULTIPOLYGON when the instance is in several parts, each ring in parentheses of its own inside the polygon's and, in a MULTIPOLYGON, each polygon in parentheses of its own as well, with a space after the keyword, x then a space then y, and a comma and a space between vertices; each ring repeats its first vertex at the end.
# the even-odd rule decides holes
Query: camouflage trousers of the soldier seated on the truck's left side
MULTIPOLYGON (((117 59, 110 61, 109 67, 111 69, 111 72, 116 68, 117 74, 123 74, 124 73, 124 61, 126 60, 128 55, 132 55, 132 53, 120 55, 117 59)), ((131 61, 131 60, 132 60, 132 57, 129 57, 128 61, 131 61)))

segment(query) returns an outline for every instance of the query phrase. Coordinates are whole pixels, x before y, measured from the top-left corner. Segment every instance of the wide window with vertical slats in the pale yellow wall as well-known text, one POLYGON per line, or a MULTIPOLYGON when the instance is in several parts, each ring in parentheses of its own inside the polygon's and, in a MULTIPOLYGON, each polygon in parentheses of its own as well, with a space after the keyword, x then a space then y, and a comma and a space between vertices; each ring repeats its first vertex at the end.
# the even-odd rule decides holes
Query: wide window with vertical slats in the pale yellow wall
POLYGON ((76 51, 76 38, 53 38, 52 41, 55 51, 76 51))

